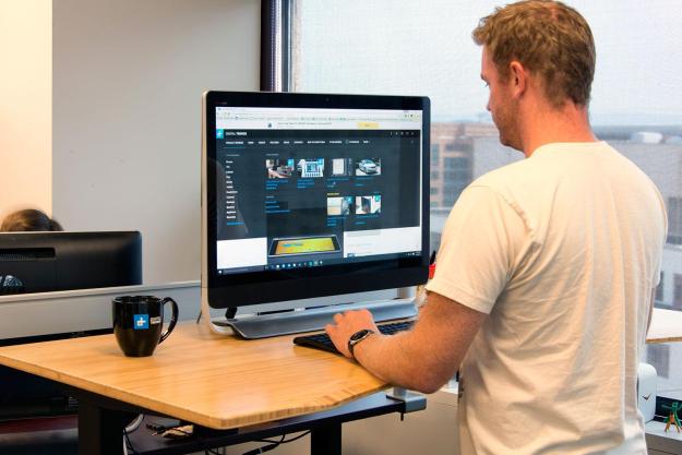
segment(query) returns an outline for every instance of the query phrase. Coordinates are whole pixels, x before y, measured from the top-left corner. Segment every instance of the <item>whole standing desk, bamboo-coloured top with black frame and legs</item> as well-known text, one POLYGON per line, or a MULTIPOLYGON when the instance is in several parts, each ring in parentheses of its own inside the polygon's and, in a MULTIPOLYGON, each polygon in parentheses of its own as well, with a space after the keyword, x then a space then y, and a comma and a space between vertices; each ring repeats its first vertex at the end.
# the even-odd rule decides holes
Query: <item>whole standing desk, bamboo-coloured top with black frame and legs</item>
POLYGON ((216 433, 225 436, 223 445, 311 429, 312 454, 340 454, 343 421, 405 411, 383 396, 349 403, 386 383, 344 357, 291 339, 242 340, 184 322, 152 357, 125 357, 113 335, 100 335, 2 347, 0 364, 63 384, 79 398, 83 455, 121 454, 130 412, 231 429, 216 433))

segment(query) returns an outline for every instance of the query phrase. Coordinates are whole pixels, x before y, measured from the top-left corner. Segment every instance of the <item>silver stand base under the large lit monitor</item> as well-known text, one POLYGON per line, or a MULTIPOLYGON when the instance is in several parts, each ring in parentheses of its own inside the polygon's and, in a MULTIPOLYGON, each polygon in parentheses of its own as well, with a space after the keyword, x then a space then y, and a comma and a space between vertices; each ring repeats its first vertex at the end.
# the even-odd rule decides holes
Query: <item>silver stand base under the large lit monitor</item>
POLYGON ((231 332, 248 339, 267 338, 301 332, 321 331, 326 324, 333 322, 334 314, 362 308, 370 310, 376 322, 415 318, 417 315, 415 299, 407 298, 297 309, 276 314, 252 315, 230 320, 210 320, 210 324, 214 332, 223 334, 231 332))

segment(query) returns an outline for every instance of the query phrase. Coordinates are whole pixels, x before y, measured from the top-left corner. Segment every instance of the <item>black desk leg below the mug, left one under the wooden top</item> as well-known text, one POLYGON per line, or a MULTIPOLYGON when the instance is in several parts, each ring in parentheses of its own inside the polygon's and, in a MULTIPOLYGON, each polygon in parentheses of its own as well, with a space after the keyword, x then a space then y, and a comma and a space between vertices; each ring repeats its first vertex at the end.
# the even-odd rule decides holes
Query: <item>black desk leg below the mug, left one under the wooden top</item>
POLYGON ((127 420, 129 412, 79 402, 79 455, 122 455, 127 420))

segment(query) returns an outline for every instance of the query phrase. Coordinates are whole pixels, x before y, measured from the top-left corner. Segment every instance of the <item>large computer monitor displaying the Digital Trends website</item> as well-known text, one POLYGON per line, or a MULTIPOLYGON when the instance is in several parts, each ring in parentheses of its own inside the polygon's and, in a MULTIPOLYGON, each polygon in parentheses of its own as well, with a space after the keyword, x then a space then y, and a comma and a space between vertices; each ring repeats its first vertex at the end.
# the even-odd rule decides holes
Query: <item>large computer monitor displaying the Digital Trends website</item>
MULTIPOLYGON (((205 93, 204 314, 426 283, 429 107, 414 96, 205 93)), ((246 337, 311 328, 271 320, 255 332, 228 324, 246 337)))

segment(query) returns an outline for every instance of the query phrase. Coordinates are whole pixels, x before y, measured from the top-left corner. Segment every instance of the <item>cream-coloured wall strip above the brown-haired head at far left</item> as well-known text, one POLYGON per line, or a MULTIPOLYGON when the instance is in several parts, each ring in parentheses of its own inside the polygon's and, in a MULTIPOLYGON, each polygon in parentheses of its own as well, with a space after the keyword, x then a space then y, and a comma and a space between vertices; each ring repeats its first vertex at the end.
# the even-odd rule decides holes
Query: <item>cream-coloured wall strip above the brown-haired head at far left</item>
POLYGON ((0 220, 51 212, 51 1, 0 1, 0 220))

